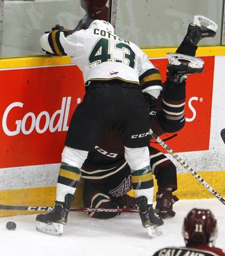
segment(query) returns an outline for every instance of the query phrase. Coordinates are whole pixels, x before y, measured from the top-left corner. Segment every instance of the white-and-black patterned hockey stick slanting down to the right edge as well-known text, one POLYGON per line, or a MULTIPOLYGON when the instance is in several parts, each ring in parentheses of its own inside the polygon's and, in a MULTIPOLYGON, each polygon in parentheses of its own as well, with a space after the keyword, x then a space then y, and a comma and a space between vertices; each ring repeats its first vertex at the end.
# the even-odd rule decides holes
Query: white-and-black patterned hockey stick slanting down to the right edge
POLYGON ((212 195, 214 195, 218 200, 220 200, 220 202, 225 204, 225 199, 222 196, 220 196, 214 189, 212 189, 212 187, 209 186, 209 184, 206 183, 206 181, 204 181, 202 177, 200 177, 193 169, 191 169, 191 167, 188 166, 188 164, 185 163, 181 157, 179 157, 175 152, 173 152, 173 150, 168 145, 166 145, 166 143, 163 140, 161 140, 160 137, 154 134, 151 129, 150 134, 164 149, 166 149, 167 152, 169 152, 170 155, 172 155, 173 158, 176 159, 176 161, 178 161, 178 163, 184 166, 184 168, 187 169, 188 172, 190 172, 194 176, 194 178, 196 178, 207 190, 209 190, 209 192, 211 192, 212 195))

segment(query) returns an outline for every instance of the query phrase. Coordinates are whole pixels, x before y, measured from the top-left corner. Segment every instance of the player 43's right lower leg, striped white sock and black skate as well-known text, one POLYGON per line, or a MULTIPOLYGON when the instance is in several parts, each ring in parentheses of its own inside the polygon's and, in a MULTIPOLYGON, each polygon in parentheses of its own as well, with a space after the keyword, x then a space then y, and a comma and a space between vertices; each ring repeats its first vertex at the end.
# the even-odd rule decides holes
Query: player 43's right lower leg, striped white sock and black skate
POLYGON ((137 195, 136 204, 140 210, 142 225, 148 228, 150 237, 159 236, 161 234, 159 227, 163 225, 163 220, 155 216, 152 207, 154 183, 149 166, 148 147, 136 149, 125 147, 125 158, 131 167, 131 181, 137 195), (136 155, 141 155, 142 158, 137 158, 136 155))

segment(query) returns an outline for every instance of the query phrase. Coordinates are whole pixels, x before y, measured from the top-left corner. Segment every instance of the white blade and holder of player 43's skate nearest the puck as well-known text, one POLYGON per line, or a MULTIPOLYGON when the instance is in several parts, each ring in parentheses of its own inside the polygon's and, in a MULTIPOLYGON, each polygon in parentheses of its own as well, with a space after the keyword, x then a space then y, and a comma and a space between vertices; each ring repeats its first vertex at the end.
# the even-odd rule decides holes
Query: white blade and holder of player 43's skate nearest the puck
POLYGON ((44 223, 37 222, 36 230, 52 236, 62 236, 63 225, 61 223, 44 223))

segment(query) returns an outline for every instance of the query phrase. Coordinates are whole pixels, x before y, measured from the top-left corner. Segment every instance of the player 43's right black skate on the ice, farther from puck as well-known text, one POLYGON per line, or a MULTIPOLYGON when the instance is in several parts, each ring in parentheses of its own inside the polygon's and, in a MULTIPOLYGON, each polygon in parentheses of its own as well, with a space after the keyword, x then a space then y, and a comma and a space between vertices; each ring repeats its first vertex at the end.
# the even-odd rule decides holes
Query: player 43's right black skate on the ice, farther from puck
POLYGON ((144 228, 148 228, 149 237, 160 236, 163 220, 154 214, 152 204, 148 204, 146 196, 136 198, 136 205, 139 207, 139 215, 144 228))

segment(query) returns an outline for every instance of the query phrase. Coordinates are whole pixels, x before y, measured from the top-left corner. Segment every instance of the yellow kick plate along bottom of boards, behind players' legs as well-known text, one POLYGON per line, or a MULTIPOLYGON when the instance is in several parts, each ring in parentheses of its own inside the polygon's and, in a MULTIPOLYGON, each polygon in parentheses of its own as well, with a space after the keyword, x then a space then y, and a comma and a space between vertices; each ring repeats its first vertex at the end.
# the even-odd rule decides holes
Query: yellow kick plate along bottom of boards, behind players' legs
MULTIPOLYGON (((217 193, 225 197, 225 170, 208 171, 198 173, 217 193)), ((157 192, 157 183, 154 178, 154 195, 157 192)), ((73 207, 82 207, 83 181, 81 180, 75 192, 73 207)), ((134 195, 134 190, 129 194, 134 195)), ((215 198, 205 187, 199 183, 190 173, 178 173, 178 190, 174 192, 180 200, 183 199, 205 199, 215 198)), ((135 196, 135 195, 134 195, 135 196)), ((38 187, 34 189, 17 189, 0 191, 0 202, 5 205, 27 205, 27 206, 53 206, 56 197, 56 187, 38 187)), ((155 202, 155 196, 154 196, 155 202)), ((210 206, 210 205, 209 205, 210 206)), ((176 211, 176 204, 174 206, 176 211)), ((34 214, 34 211, 11 211, 0 210, 0 216, 13 216, 17 214, 34 214)))

